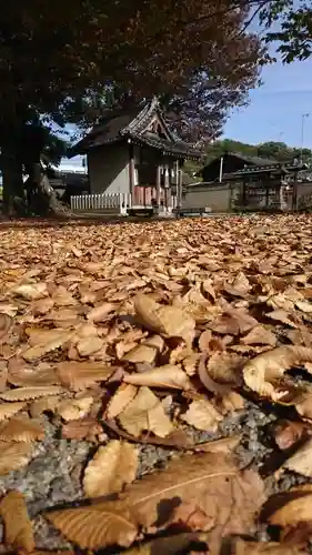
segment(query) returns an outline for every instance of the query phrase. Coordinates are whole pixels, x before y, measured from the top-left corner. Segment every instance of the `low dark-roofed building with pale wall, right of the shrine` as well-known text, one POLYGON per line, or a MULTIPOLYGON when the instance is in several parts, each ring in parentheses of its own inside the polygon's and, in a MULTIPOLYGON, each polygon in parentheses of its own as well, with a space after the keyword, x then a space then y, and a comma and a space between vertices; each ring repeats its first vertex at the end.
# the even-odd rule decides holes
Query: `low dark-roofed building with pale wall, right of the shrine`
MULTIPOLYGON (((304 170, 306 165, 301 163, 279 163, 236 154, 224 155, 222 161, 220 157, 203 168, 203 182, 184 189, 183 205, 209 206, 214 212, 292 210, 302 194, 299 176, 304 170)), ((306 192, 305 188, 304 194, 306 192)))

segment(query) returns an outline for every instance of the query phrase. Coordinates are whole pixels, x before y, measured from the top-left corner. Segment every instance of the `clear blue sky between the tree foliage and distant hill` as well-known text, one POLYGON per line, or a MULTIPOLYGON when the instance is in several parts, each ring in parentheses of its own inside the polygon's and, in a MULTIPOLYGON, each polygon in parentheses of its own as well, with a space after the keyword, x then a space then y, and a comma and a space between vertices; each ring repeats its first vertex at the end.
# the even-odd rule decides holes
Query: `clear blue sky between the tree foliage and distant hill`
POLYGON ((263 68, 263 85, 250 91, 246 108, 234 110, 224 137, 256 144, 283 141, 300 147, 302 114, 304 147, 312 148, 312 59, 284 65, 281 62, 263 68))

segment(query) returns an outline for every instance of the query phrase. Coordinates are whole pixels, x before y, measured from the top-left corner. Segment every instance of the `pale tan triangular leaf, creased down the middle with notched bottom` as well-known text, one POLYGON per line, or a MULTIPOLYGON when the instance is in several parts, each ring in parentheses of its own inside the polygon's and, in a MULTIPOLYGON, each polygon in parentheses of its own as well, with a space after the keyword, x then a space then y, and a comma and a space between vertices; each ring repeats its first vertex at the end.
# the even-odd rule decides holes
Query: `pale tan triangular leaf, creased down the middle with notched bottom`
POLYGON ((173 425, 161 402, 149 387, 140 387, 135 397, 119 414, 119 422, 134 437, 139 437, 144 431, 159 437, 173 432, 173 425))

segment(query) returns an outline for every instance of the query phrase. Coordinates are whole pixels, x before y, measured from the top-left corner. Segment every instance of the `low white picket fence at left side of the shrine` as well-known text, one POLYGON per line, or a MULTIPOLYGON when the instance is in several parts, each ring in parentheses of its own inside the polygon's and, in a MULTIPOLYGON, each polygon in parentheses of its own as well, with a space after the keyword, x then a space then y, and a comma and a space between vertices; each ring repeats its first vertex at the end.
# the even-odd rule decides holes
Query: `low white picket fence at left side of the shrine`
POLYGON ((80 194, 70 198, 70 208, 72 212, 114 209, 118 214, 127 215, 127 210, 131 208, 131 194, 80 194))

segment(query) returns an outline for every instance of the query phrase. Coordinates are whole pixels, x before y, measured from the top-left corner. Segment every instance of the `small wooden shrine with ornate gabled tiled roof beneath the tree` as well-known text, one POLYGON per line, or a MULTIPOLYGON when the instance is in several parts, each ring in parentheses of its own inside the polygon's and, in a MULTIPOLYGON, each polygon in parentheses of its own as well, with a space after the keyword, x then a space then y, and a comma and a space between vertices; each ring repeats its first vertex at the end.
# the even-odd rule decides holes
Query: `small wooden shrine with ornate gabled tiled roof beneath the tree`
POLYGON ((125 193, 132 206, 170 208, 181 196, 184 160, 203 152, 172 132, 153 99, 143 109, 113 111, 71 154, 87 154, 91 194, 125 193))

